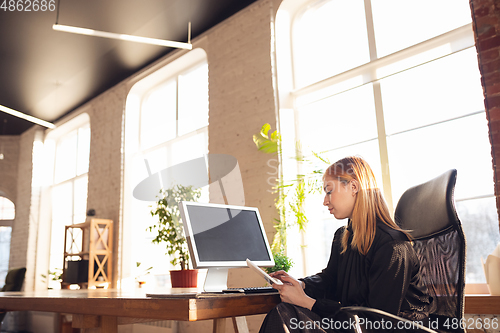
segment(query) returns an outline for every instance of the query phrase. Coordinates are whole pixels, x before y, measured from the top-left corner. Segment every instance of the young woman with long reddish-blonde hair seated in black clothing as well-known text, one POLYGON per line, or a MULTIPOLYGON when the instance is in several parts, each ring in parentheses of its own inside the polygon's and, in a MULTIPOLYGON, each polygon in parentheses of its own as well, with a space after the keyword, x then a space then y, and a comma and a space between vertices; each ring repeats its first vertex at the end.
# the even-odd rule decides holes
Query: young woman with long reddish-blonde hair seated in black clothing
POLYGON ((333 332, 333 322, 323 319, 347 320, 340 308, 352 305, 424 321, 431 298, 420 283, 418 258, 410 236, 392 220, 368 163, 359 157, 335 162, 323 175, 323 189, 323 205, 348 225, 336 231, 321 273, 300 280, 284 271, 272 274, 284 283, 273 285, 283 303, 260 332, 333 332))

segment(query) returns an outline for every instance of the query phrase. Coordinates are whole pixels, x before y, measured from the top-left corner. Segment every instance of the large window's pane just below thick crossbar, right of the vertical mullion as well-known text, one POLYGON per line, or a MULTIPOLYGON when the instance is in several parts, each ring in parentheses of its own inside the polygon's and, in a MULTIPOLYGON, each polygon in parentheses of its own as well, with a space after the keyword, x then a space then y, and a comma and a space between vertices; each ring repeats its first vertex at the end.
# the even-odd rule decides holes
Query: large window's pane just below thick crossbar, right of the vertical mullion
POLYGON ((387 134, 484 110, 473 48, 380 82, 387 134))

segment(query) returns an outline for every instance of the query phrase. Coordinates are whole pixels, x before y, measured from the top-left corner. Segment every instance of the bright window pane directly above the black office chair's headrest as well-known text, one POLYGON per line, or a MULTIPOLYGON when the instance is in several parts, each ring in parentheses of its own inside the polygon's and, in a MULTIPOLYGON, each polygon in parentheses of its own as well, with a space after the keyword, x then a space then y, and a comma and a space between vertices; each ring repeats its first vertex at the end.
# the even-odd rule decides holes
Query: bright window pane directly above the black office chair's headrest
POLYGON ((388 138, 394 202, 411 186, 457 169, 455 198, 493 195, 484 113, 388 138))

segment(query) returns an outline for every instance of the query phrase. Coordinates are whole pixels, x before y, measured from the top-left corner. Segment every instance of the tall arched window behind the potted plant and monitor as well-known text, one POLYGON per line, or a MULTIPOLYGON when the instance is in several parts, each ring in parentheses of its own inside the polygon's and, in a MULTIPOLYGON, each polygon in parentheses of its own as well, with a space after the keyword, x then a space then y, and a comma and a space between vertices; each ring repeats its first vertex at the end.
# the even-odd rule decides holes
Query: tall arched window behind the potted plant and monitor
MULTIPOLYGON (((134 197, 133 189, 162 170, 208 154, 205 52, 193 50, 139 82, 128 96, 126 117, 121 286, 131 287, 134 278, 148 267, 153 267, 146 277, 148 285, 167 286, 170 258, 164 244, 153 244, 153 233, 146 231, 156 222, 150 213, 154 201, 134 197), (140 270, 136 269, 138 262, 140 270)), ((201 200, 208 201, 206 190, 201 200)))

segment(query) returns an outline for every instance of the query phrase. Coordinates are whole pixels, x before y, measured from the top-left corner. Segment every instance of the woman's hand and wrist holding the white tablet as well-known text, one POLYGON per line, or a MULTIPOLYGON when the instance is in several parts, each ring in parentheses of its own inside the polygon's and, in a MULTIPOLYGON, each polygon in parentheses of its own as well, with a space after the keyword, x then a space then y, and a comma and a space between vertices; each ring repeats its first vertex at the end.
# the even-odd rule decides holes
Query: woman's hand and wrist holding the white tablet
POLYGON ((303 282, 288 275, 285 271, 277 271, 269 275, 283 282, 281 286, 275 283, 272 285, 274 289, 279 291, 283 302, 302 306, 309 310, 312 309, 316 300, 306 295, 303 288, 303 282))

